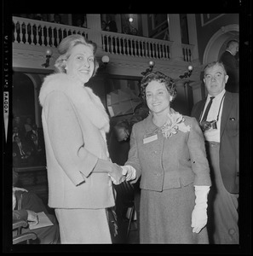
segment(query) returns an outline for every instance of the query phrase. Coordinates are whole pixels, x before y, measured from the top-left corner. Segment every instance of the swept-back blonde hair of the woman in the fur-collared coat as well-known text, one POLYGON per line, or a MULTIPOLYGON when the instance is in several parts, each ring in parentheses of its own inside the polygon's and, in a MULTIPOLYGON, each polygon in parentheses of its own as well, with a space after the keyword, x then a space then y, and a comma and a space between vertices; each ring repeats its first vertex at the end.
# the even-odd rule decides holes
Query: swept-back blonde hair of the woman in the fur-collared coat
MULTIPOLYGON (((58 52, 60 56, 55 61, 55 67, 59 73, 66 73, 66 60, 71 55, 71 50, 74 46, 78 44, 83 44, 89 46, 93 50, 93 55, 95 55, 97 46, 94 42, 89 41, 86 38, 83 38, 82 35, 79 34, 72 34, 70 36, 67 36, 66 38, 63 38, 58 46, 58 52)), ((95 68, 92 76, 95 76, 95 73, 99 67, 98 61, 96 59, 94 60, 95 68)))

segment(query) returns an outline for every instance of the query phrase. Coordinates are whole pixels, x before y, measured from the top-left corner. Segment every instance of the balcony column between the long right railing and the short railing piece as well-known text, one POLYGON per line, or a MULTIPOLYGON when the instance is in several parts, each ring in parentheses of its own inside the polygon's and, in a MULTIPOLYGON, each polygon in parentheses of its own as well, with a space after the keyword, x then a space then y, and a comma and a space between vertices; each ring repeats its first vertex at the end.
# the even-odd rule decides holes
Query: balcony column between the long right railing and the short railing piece
POLYGON ((170 57, 172 60, 182 61, 182 49, 181 49, 181 26, 179 14, 169 15, 170 22, 170 41, 171 45, 170 57))

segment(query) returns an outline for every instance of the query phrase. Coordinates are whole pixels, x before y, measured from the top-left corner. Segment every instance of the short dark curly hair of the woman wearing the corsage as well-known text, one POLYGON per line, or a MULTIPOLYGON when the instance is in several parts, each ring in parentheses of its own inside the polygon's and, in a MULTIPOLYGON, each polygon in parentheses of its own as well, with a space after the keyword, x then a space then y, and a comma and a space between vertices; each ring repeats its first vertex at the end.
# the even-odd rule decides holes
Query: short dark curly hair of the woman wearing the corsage
POLYGON ((165 75, 164 73, 160 72, 153 72, 147 73, 141 79, 141 97, 146 102, 146 87, 152 81, 158 81, 159 83, 164 83, 166 89, 169 91, 170 96, 172 96, 172 101, 175 99, 176 96, 176 84, 173 79, 169 76, 165 75))

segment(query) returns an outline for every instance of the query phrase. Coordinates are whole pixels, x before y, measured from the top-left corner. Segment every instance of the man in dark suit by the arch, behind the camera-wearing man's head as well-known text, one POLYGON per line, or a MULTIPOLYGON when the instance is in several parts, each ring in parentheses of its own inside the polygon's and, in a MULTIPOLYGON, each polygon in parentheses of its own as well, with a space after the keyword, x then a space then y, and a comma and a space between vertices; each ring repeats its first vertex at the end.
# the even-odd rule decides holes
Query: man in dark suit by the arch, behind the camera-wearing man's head
POLYGON ((239 42, 230 40, 227 42, 227 48, 220 58, 228 75, 226 90, 230 92, 239 92, 239 61, 235 57, 238 52, 239 42))

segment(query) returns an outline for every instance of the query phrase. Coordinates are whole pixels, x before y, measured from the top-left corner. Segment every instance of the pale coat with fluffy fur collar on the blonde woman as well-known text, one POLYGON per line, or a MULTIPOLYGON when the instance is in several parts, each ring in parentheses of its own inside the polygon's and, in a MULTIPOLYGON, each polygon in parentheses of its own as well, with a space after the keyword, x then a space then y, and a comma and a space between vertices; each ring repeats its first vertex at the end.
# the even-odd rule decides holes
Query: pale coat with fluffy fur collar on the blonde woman
POLYGON ((98 96, 64 73, 49 75, 39 100, 47 171, 49 207, 114 206, 107 173, 93 173, 97 160, 109 160, 109 119, 98 96))

